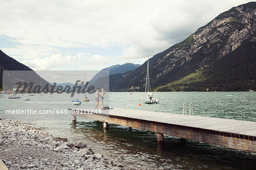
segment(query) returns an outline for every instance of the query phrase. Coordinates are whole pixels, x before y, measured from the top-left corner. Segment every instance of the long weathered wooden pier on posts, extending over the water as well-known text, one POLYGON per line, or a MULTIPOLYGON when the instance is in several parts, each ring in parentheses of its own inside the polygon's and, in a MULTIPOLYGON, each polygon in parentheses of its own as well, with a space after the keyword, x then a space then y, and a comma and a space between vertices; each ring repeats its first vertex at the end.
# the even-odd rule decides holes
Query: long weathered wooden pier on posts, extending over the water
POLYGON ((164 142, 163 134, 168 134, 256 153, 256 122, 118 108, 102 110, 102 114, 80 111, 72 115, 73 121, 76 117, 102 121, 105 129, 113 123, 153 131, 159 144, 164 142))

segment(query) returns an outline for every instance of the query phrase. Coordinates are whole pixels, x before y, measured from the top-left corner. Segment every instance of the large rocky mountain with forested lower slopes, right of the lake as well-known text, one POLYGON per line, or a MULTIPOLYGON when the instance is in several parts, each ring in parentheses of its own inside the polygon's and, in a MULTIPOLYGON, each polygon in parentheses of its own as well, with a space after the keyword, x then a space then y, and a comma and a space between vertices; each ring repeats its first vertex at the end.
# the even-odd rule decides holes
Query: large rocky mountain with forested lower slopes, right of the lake
MULTIPOLYGON (((154 55, 149 64, 155 90, 255 90, 255 6, 249 2, 233 7, 154 55)), ((111 75, 110 90, 143 91, 146 69, 147 62, 111 75)))

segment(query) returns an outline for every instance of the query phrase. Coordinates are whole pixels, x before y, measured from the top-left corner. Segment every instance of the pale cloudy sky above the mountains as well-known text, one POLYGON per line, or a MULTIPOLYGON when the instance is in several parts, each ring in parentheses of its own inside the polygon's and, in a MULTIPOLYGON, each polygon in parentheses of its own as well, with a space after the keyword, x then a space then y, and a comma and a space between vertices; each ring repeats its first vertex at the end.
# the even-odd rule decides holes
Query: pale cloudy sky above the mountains
POLYGON ((247 2, 0 0, 0 49, 36 71, 142 64, 247 2))

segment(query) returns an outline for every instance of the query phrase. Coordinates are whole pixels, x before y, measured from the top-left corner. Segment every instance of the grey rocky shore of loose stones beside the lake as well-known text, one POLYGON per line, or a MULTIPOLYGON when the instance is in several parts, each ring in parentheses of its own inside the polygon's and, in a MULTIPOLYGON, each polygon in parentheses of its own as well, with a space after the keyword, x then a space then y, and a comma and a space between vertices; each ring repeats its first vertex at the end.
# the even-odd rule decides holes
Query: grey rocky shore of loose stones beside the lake
POLYGON ((0 159, 9 169, 133 169, 30 123, 0 118, 0 159))

